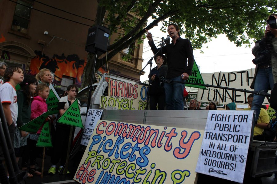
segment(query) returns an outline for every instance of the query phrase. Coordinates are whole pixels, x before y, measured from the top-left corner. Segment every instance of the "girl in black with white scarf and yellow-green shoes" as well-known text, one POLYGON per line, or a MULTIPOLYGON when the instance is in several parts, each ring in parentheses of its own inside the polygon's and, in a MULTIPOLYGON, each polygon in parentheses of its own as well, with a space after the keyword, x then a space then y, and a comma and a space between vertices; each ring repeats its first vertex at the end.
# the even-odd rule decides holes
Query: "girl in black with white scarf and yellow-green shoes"
MULTIPOLYGON (((67 95, 60 99, 58 103, 58 117, 57 120, 62 116, 62 114, 69 108, 69 106, 77 100, 75 97, 78 94, 78 87, 75 85, 70 85, 67 87, 67 95)), ((79 109, 81 108, 80 102, 78 100, 79 109)), ((70 135, 70 125, 65 125, 61 123, 56 123, 56 131, 55 131, 55 140, 54 140, 54 153, 51 156, 51 163, 52 166, 50 167, 48 174, 55 174, 56 173, 56 164, 61 159, 61 164, 58 169, 58 172, 61 171, 62 167, 66 163, 66 153, 67 153, 67 146, 69 141, 70 135)), ((72 132, 71 143, 73 141, 74 130, 72 132)), ((69 171, 67 171, 69 174, 69 171)))

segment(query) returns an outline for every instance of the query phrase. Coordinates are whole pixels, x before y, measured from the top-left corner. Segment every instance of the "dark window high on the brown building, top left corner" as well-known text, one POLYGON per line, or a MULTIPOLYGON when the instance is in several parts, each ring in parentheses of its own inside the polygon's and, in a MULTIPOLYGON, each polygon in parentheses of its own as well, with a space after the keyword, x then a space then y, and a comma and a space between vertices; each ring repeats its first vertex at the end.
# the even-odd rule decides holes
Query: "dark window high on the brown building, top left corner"
POLYGON ((11 27, 12 30, 27 34, 33 3, 34 1, 32 0, 17 1, 11 27))

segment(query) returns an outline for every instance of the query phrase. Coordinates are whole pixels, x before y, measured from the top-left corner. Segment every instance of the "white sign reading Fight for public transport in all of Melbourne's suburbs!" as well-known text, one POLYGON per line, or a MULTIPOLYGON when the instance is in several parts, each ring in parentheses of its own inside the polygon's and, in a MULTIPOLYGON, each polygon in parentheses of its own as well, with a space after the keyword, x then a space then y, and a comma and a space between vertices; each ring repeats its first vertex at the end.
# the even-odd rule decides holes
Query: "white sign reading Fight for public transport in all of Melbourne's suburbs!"
POLYGON ((243 182, 253 112, 209 111, 195 172, 243 182))

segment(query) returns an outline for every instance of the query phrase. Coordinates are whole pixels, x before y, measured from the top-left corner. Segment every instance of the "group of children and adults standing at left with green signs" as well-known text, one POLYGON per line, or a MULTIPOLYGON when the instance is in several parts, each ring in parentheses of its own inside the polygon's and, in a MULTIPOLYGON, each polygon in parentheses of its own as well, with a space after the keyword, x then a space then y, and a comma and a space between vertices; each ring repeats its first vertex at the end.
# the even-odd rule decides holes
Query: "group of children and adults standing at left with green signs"
MULTIPOLYGON (((4 81, 4 84, 0 86, 0 98, 4 115, 8 123, 10 139, 14 147, 16 161, 18 162, 19 159, 22 158, 20 169, 27 171, 27 175, 30 178, 34 175, 42 174, 36 165, 36 159, 38 155, 42 155, 42 149, 41 147, 37 147, 36 144, 44 123, 49 121, 52 127, 51 139, 53 142, 53 148, 50 150, 52 166, 50 167, 48 174, 56 173, 56 165, 59 160, 61 160, 61 162, 58 171, 61 171, 65 164, 67 154, 66 145, 68 145, 70 137, 70 126, 55 122, 55 120, 58 120, 66 109, 69 108, 71 103, 77 100, 75 97, 78 94, 78 87, 75 85, 67 87, 66 93, 64 93, 64 96, 58 103, 59 113, 57 117, 55 115, 48 116, 36 133, 26 132, 20 130, 19 127, 48 111, 46 99, 49 96, 49 86, 53 82, 54 76, 51 75, 50 70, 46 68, 40 70, 34 77, 32 75, 24 74, 21 67, 8 67, 6 63, 3 64, 2 62, 0 63, 0 67, 0 76, 4 81), (55 127, 54 122, 56 125, 55 127)), ((78 104, 80 108, 79 101, 78 104)), ((74 135, 74 130, 72 135, 74 135)), ((71 140, 71 143, 72 141, 73 140, 71 140)), ((0 160, 2 164, 5 165, 5 158, 1 146, 0 160)), ((68 173, 69 171, 67 171, 67 174, 68 173)), ((8 172, 7 176, 9 176, 8 172)))

